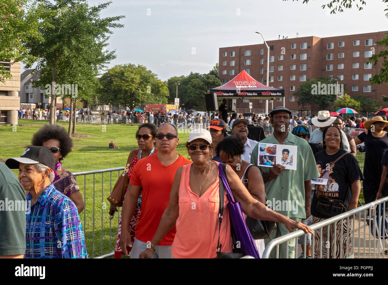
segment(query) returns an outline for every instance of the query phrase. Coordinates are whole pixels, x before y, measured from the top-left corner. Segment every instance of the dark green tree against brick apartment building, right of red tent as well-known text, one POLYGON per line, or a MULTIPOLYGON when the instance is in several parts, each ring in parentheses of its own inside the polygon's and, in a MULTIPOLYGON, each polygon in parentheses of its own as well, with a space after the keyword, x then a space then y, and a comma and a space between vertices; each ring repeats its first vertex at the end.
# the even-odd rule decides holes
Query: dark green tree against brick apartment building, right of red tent
MULTIPOLYGON (((334 89, 336 86, 336 79, 329 76, 319 76, 301 84, 293 95, 298 97, 298 105, 302 107, 315 103, 320 110, 325 110, 337 98, 334 89)), ((345 90, 341 91, 344 92, 345 90)))

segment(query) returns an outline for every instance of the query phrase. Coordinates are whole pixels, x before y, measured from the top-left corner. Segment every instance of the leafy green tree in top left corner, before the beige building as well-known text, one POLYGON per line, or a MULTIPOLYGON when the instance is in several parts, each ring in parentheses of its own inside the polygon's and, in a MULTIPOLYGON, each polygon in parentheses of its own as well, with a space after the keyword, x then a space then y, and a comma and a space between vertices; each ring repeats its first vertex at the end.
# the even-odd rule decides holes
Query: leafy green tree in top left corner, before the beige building
MULTIPOLYGON (((31 64, 36 60, 23 46, 28 38, 38 35, 38 18, 42 12, 42 4, 31 3, 30 0, 2 0, 0 3, 0 59, 13 62, 21 61, 31 64)), ((0 82, 11 79, 10 71, 0 64, 0 82)))

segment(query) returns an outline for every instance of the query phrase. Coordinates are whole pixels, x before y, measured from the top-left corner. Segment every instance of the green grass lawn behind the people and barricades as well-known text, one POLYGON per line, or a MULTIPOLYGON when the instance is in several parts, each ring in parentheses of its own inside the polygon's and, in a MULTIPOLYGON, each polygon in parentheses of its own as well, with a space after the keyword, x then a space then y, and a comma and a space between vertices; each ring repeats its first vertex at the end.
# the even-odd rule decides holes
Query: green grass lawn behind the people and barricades
MULTIPOLYGON (((18 124, 42 125, 49 121, 19 119, 18 124)), ((59 121, 66 130, 68 122, 59 121)), ((20 157, 25 147, 31 144, 33 134, 41 126, 0 126, 0 159, 20 157)), ((116 168, 125 166, 130 151, 137 148, 135 133, 138 126, 122 124, 77 123, 77 133, 88 135, 88 138, 74 137, 73 151, 64 159, 63 167, 70 172, 88 171, 95 169, 116 168), (109 149, 113 141, 115 149, 109 149), (120 149, 118 148, 120 147, 120 149)), ((188 133, 181 131, 177 152, 187 156, 185 143, 188 133)), ((360 167, 363 169, 364 154, 357 153, 360 167)), ((17 171, 14 170, 16 174, 17 171)), ((118 171, 113 173, 98 173, 76 176, 82 196, 86 202, 80 219, 84 226, 85 240, 89 257, 107 254, 114 250, 116 242, 118 214, 109 219, 109 202, 106 198, 118 178, 118 171), (94 181, 94 183, 93 183, 94 181), (102 236, 102 239, 101 239, 102 236)), ((364 195, 360 194, 360 201, 364 203, 364 195)))

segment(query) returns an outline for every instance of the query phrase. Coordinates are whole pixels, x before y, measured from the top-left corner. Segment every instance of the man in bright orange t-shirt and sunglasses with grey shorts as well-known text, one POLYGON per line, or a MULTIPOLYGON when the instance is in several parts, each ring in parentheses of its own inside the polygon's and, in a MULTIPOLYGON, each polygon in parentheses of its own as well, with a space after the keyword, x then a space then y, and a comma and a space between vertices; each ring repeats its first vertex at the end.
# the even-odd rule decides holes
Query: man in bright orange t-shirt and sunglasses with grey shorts
MULTIPOLYGON (((135 211, 140 191, 142 195, 142 213, 136 223, 135 240, 131 250, 131 258, 139 258, 145 249, 152 249, 152 258, 171 258, 171 245, 175 237, 175 226, 157 244, 151 244, 158 229, 163 212, 168 206, 171 187, 178 168, 190 164, 187 158, 175 152, 179 139, 175 126, 162 124, 156 134, 158 153, 152 154, 133 168, 130 188, 126 193, 121 212, 121 228, 128 228, 131 214, 135 211)), ((128 231, 121 231, 120 247, 126 252, 126 244, 131 246, 128 231)))

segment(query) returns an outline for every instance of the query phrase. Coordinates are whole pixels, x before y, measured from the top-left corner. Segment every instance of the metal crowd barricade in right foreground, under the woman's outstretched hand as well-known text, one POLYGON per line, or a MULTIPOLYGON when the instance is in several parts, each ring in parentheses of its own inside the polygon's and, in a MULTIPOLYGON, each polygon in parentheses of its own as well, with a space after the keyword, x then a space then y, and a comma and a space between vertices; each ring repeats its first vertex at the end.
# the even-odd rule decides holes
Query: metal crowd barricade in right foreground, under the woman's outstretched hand
MULTIPOLYGON (((315 238, 312 236, 312 258, 322 258, 322 254, 326 253, 326 258, 336 258, 337 252, 340 252, 340 257, 343 256, 343 250, 348 251, 346 258, 387 258, 385 255, 387 244, 387 225, 386 225, 386 202, 388 197, 371 202, 359 208, 344 212, 343 214, 334 216, 332 218, 320 221, 319 223, 310 226, 314 233, 317 234, 317 230, 320 230, 319 244, 315 244, 315 238), (376 206, 378 210, 376 211, 376 206), (382 209, 382 210, 381 210, 382 209), (367 217, 367 210, 371 213, 371 217, 367 217), (357 214, 357 216, 356 216, 357 214), (375 217, 378 216, 379 219, 375 217), (346 219, 349 230, 344 232, 342 221, 346 219), (341 230, 337 232, 334 230, 334 241, 322 240, 322 230, 327 228, 327 232, 334 227, 337 228, 337 223, 341 223, 341 230), (373 226, 373 234, 369 225, 373 226), (343 236, 345 234, 345 237, 343 236), (338 246, 339 243, 339 246, 338 246), (339 248, 337 248, 337 246, 339 248), (333 250, 333 251, 331 251, 333 250), (349 251, 350 250, 350 251, 349 251), (329 253, 333 253, 331 257, 329 253)), ((286 242, 286 256, 288 258, 288 241, 295 239, 295 253, 293 258, 297 258, 298 253, 298 237, 303 236, 303 244, 306 248, 306 236, 302 230, 297 230, 287 235, 275 238, 271 240, 264 250, 262 258, 269 258, 272 250, 276 250, 276 258, 279 258, 279 245, 286 242)), ((328 235, 329 239, 330 235, 328 235)), ((303 256, 306 258, 306 256, 303 256)))

